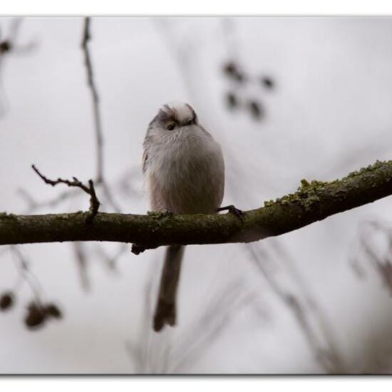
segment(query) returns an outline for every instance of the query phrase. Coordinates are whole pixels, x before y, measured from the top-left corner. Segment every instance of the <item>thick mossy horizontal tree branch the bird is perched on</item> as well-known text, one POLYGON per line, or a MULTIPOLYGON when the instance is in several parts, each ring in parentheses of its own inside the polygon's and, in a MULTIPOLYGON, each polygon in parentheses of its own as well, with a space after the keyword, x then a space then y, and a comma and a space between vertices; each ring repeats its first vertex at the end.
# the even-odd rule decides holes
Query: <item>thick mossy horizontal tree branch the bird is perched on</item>
POLYGON ((392 195, 392 161, 376 162, 341 180, 301 181, 299 190, 242 220, 225 215, 127 215, 90 212, 56 215, 0 214, 0 244, 35 242, 133 242, 145 249, 167 244, 252 242, 299 229, 326 217, 392 195))

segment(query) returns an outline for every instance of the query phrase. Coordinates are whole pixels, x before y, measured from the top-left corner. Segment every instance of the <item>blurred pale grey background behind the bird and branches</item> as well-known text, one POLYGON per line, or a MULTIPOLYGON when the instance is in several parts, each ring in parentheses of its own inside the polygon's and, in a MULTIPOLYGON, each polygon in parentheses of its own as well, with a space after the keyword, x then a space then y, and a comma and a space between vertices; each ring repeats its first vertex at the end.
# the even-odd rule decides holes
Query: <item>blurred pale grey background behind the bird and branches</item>
MULTIPOLYGON (((9 22, 0 19, 2 34, 9 22)), ((1 58, 6 113, 0 118, 0 210, 26 210, 17 193, 20 187, 37 200, 61 192, 44 185, 31 163, 48 177, 88 180, 94 175, 82 25, 81 18, 26 18, 18 43, 33 42, 35 48, 1 58)), ((146 127, 167 101, 192 104, 222 144, 227 163, 224 203, 244 210, 296 190, 301 178, 332 180, 391 158, 390 18, 264 17, 229 24, 215 17, 93 18, 91 31, 105 172, 125 212, 147 210, 137 168, 146 127), (273 91, 254 84, 242 92, 262 99, 267 110, 262 122, 225 107, 223 96, 230 85, 221 68, 232 57, 252 75, 269 75, 277 83, 273 91), (136 192, 127 197, 115 184, 131 169, 136 192)), ((81 195, 39 212, 87 206, 87 197, 81 195)), ((145 314, 145 284, 154 277, 154 301, 163 249, 138 257, 125 252, 113 273, 94 253, 94 244, 89 245, 92 288, 86 293, 69 244, 21 247, 45 297, 57 301, 65 317, 27 331, 24 306, 31 292, 24 286, 16 308, 0 314, 0 372, 329 371, 317 361, 304 325, 277 294, 280 289, 304 304, 306 325, 317 345, 330 347, 326 337, 334 341, 344 363, 336 371, 388 371, 390 294, 370 263, 361 261, 366 279, 358 279, 349 260, 356 254, 362 222, 388 224, 391 210, 387 198, 249 246, 259 264, 242 245, 189 247, 180 283, 179 326, 158 335, 150 333, 150 314, 145 314), (231 282, 239 287, 234 294, 231 282), (327 322, 315 316, 304 289, 327 322), (231 295, 242 302, 235 305, 231 295), (212 304, 220 296, 226 301, 216 311, 212 304), (212 316, 203 319, 209 307, 212 316), (225 327, 220 329, 221 319, 225 327), (326 333, 327 326, 331 331, 326 333), (216 336, 204 344, 203 336, 214 328, 219 329, 216 336), (140 347, 140 357, 130 356, 126 342, 140 347)), ((105 244, 105 249, 114 254, 118 248, 105 244)), ((386 246, 380 242, 377 249, 384 252, 386 246)), ((4 290, 14 284, 17 272, 9 252, 0 257, 4 290)))

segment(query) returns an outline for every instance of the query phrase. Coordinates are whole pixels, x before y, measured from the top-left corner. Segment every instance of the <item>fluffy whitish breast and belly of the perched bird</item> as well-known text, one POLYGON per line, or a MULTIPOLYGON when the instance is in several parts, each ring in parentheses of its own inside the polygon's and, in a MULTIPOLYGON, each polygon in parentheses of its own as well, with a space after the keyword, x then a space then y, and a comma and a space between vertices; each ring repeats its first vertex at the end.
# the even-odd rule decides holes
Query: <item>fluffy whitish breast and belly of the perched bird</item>
POLYGON ((197 126, 172 133, 150 151, 146 177, 153 210, 212 213, 220 207, 225 167, 220 145, 197 126))

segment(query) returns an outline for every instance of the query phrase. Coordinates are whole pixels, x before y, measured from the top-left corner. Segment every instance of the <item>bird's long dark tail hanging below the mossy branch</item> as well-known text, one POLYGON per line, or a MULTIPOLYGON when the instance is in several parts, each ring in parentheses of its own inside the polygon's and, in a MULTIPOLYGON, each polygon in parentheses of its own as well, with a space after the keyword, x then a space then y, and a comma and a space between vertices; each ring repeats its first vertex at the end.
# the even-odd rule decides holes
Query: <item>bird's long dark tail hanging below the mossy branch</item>
POLYGON ((180 245, 171 245, 166 249, 155 309, 154 331, 160 331, 165 324, 175 325, 175 302, 184 249, 185 247, 180 245))

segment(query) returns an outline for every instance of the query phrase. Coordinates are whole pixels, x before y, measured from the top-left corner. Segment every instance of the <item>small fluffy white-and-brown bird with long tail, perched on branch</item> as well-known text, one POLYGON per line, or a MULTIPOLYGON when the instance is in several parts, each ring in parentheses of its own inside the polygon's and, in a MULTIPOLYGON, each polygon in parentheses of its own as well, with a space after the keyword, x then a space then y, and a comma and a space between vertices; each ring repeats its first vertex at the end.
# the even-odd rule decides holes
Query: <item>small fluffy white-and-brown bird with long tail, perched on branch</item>
MULTIPOLYGON (((143 175, 150 208, 172 214, 212 214, 222 207, 222 149, 187 103, 160 108, 143 143, 143 175)), ((234 208, 234 207, 233 207, 234 208)), ((238 210, 237 210, 238 211, 238 210)), ((153 328, 176 322, 176 296, 184 247, 167 247, 153 328)))

